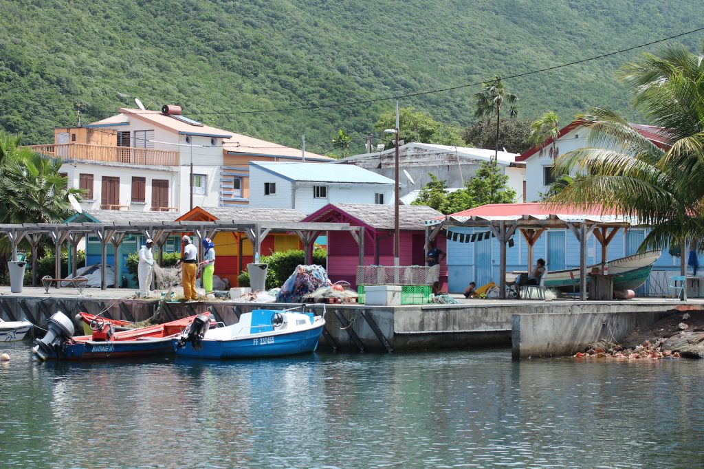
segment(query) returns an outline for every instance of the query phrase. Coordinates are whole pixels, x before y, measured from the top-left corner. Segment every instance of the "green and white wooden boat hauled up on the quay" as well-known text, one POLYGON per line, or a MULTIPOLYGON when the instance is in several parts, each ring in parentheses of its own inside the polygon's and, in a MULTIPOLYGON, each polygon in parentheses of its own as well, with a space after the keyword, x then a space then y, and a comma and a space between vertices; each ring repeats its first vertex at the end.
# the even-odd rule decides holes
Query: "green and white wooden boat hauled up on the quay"
MULTIPOLYGON (((614 290, 634 290, 644 284, 648 280, 653 264, 660 258, 660 254, 662 251, 656 249, 608 261, 608 275, 614 280, 614 290)), ((602 270, 601 263, 586 268, 587 274, 592 271, 601 273, 602 270)), ((589 284, 589 275, 587 275, 586 282, 589 284)), ((548 270, 545 277, 545 287, 560 292, 572 292, 575 289, 579 291, 579 268, 548 270), (574 276, 574 280, 572 280, 570 273, 574 276)))

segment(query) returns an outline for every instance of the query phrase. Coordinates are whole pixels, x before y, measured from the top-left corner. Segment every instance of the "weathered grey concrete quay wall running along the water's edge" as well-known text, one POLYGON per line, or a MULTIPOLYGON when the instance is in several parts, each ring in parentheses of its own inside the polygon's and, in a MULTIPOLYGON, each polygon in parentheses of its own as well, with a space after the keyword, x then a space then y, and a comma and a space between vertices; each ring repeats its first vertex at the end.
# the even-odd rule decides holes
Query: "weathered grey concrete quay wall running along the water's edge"
MULTIPOLYGON (((80 311, 109 318, 144 320, 156 310, 156 299, 135 299, 132 289, 25 287, 11 293, 0 287, 0 316, 5 320, 26 317, 39 327, 56 311, 73 316, 80 311)), ((614 342, 635 327, 655 323, 674 311, 704 310, 704 299, 665 301, 498 300, 464 299, 460 304, 367 306, 361 304, 311 304, 307 310, 325 314, 327 322, 320 349, 338 351, 417 351, 511 347, 514 359, 564 356, 582 351, 591 342, 614 342)), ((210 311, 226 325, 255 308, 282 310, 291 304, 257 304, 234 301, 170 303, 166 318, 210 311)), ((35 332, 36 335, 42 331, 35 332)))

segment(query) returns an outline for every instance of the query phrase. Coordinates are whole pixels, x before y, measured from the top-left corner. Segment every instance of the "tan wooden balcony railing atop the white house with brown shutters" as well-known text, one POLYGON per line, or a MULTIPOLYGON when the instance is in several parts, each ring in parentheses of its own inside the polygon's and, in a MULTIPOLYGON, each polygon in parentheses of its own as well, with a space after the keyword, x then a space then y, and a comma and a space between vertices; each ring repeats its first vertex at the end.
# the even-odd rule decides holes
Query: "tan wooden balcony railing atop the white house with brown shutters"
POLYGON ((128 165, 177 166, 179 152, 132 148, 130 146, 101 146, 80 143, 28 145, 27 148, 49 154, 62 161, 101 161, 128 165))

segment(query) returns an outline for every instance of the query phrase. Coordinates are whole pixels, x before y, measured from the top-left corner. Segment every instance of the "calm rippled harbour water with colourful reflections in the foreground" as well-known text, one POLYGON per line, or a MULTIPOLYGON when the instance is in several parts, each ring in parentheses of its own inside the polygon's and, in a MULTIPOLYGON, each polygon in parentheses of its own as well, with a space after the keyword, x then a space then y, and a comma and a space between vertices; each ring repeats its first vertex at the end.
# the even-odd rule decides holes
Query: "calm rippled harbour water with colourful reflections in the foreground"
POLYGON ((510 351, 37 363, 0 344, 2 468, 699 468, 704 361, 510 351))

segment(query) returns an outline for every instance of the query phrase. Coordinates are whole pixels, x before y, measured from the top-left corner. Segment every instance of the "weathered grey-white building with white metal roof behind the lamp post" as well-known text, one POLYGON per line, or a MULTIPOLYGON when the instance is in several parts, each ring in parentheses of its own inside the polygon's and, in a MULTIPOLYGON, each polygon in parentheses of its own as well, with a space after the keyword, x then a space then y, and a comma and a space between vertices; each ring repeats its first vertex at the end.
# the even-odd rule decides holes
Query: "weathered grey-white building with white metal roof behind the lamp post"
MULTIPOLYGON (((420 190, 431 181, 430 174, 446 182, 449 188, 464 187, 476 175, 479 163, 494 158, 494 150, 436 144, 407 143, 398 146, 399 183, 401 196, 420 190)), ((517 163, 515 153, 499 151, 497 163, 503 174, 508 175, 508 187, 515 190, 516 201, 523 201, 525 165, 517 163)), ((395 178, 396 149, 349 156, 339 160, 395 178)))

